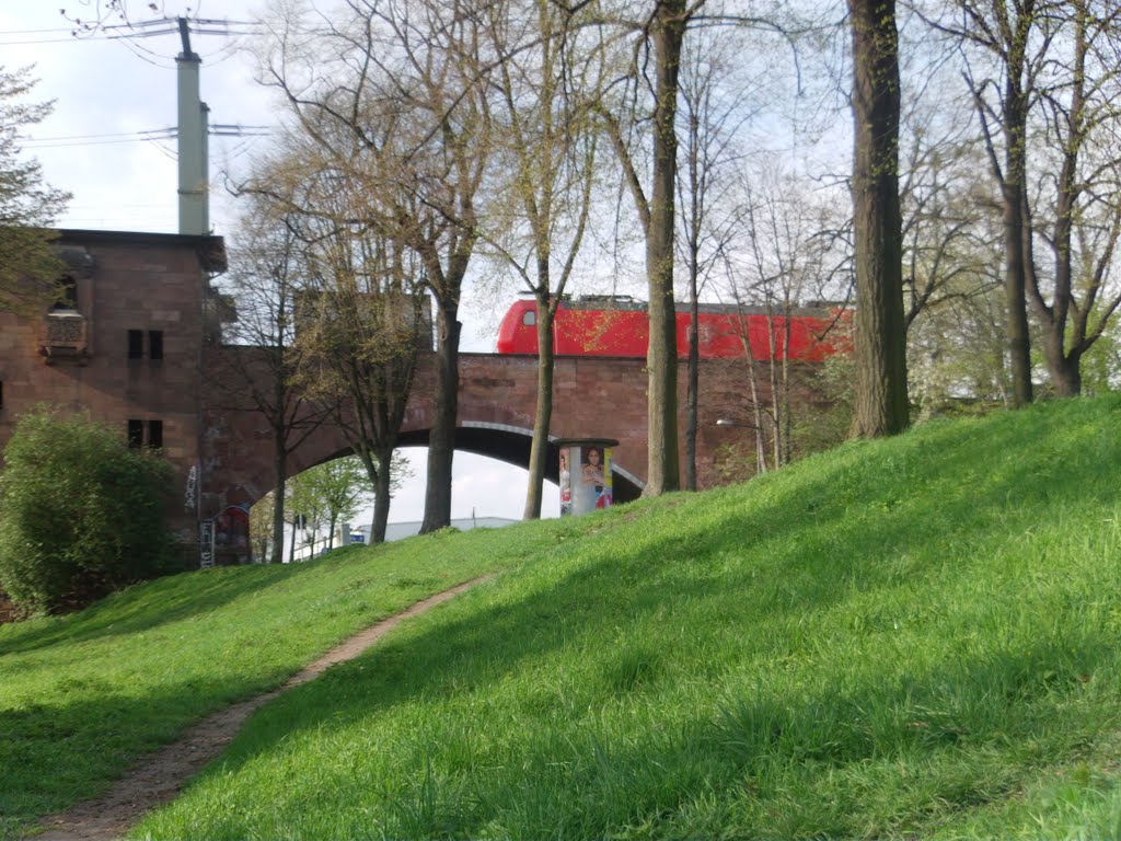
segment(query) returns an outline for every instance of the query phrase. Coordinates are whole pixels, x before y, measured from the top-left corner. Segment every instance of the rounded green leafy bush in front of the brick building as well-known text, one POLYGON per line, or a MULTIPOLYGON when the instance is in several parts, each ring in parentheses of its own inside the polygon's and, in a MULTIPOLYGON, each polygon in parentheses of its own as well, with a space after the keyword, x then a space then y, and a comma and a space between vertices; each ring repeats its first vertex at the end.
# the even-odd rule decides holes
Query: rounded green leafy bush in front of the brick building
POLYGON ((0 588, 36 611, 83 607, 170 569, 170 466, 82 415, 25 415, 0 473, 0 588))

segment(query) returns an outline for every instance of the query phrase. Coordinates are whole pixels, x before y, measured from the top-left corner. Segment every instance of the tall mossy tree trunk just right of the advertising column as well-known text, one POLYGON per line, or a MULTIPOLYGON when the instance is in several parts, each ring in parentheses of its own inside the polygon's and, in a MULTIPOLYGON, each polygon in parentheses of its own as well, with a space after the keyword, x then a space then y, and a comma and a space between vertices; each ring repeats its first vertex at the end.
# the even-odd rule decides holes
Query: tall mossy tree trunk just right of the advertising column
POLYGON ((659 0, 655 12, 657 73, 654 111, 654 188, 646 238, 650 294, 648 461, 646 493, 680 487, 677 450, 677 331, 674 312, 674 182, 677 175, 677 76, 685 39, 685 1, 659 0))

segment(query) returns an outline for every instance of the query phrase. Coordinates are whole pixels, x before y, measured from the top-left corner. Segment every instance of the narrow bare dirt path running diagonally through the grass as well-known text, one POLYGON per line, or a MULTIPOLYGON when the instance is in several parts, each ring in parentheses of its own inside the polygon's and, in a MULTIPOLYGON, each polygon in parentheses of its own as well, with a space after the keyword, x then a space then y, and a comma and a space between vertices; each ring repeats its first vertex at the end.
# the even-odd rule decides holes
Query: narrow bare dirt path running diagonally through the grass
POLYGON ((146 812, 175 797, 200 768, 222 752, 253 710, 267 704, 281 692, 314 680, 330 666, 353 659, 405 619, 423 613, 489 577, 484 575, 473 579, 418 601, 400 613, 370 626, 361 634, 332 648, 282 686, 203 719, 187 730, 178 741, 165 745, 145 759, 141 765, 119 779, 100 800, 78 803, 66 812, 45 817, 39 825, 46 828, 46 832, 31 835, 29 839, 114 841, 146 812))

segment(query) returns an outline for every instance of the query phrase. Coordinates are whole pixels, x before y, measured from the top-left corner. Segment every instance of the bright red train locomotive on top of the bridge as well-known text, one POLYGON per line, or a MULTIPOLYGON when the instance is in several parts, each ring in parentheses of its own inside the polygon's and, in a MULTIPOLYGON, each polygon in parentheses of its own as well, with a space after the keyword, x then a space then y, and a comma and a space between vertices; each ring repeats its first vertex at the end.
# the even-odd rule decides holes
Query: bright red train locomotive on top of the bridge
MULTIPOLYGON (((842 345, 836 330, 837 308, 803 307, 790 314, 789 359, 821 362, 842 345)), ((702 304, 697 315, 702 359, 739 359, 749 340, 753 359, 784 358, 786 317, 768 316, 762 307, 702 304)), ((677 308, 677 353, 688 357, 689 313, 677 308)), ((614 295, 590 295, 564 299, 553 325, 557 355, 645 357, 649 339, 646 303, 614 295)), ((537 303, 518 301, 502 318, 498 331, 499 353, 537 353, 537 303)))

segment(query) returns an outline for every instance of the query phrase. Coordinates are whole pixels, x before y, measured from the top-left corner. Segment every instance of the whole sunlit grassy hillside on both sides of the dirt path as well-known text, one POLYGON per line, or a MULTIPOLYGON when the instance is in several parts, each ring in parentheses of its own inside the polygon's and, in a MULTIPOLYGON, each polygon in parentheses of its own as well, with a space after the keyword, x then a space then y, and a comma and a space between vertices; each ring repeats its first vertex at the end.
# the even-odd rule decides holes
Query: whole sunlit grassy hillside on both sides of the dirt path
POLYGON ((485 571, 259 711, 133 834, 1121 837, 1119 427, 1115 397, 935 423, 0 629, 0 837, 485 571))

